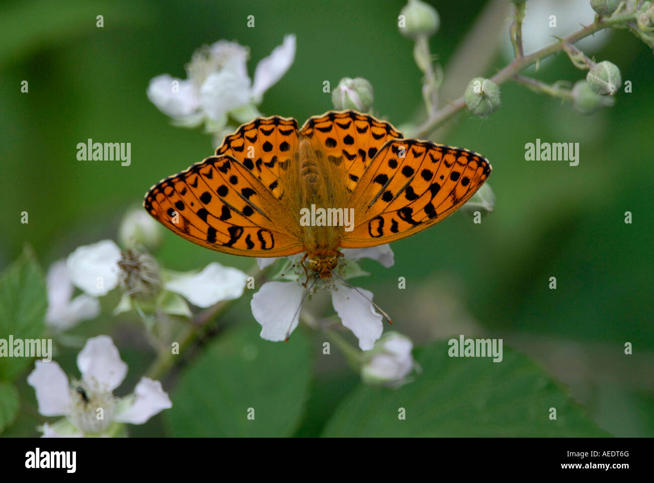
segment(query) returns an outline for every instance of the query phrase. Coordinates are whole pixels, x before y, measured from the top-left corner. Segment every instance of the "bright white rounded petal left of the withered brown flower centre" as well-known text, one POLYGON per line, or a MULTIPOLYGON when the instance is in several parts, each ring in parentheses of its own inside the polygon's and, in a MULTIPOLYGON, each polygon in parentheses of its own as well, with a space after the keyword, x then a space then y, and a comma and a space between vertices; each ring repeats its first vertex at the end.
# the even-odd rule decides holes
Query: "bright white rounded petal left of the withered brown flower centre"
POLYGON ((78 247, 66 266, 73 283, 88 295, 102 296, 118 285, 120 248, 111 240, 78 247))

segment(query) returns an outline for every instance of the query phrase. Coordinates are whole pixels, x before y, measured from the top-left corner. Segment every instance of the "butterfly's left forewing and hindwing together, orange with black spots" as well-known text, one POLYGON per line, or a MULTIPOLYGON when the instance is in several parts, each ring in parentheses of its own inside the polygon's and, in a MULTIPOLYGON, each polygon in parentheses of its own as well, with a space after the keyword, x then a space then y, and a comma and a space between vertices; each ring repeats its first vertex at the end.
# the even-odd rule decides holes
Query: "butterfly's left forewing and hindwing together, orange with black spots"
POLYGON ((292 169, 297 145, 296 120, 257 118, 226 137, 216 156, 150 188, 143 206, 182 238, 212 250, 249 257, 300 253, 299 228, 288 223, 290 213, 279 201, 279 179, 292 169))

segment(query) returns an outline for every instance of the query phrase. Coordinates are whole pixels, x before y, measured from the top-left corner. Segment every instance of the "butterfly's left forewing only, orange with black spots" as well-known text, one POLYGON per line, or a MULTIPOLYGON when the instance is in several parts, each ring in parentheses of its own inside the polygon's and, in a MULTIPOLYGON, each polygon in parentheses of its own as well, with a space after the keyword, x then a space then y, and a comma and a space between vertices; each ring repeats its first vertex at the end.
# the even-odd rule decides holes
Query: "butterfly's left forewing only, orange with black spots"
POLYGON ((150 188, 144 206, 176 234, 216 251, 251 257, 300 253, 279 223, 277 200, 230 156, 211 156, 150 188))

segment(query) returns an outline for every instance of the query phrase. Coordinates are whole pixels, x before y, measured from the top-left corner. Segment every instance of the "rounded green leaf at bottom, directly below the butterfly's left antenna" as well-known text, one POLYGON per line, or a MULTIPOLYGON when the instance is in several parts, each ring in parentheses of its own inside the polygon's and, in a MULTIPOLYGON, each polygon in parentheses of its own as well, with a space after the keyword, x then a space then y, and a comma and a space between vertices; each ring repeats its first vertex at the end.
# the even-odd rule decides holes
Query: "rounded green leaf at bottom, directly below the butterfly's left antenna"
POLYGON ((284 343, 262 340, 258 329, 248 325, 222 334, 182 372, 173 407, 164 413, 172 436, 294 433, 309 393, 309 344, 300 331, 284 343))

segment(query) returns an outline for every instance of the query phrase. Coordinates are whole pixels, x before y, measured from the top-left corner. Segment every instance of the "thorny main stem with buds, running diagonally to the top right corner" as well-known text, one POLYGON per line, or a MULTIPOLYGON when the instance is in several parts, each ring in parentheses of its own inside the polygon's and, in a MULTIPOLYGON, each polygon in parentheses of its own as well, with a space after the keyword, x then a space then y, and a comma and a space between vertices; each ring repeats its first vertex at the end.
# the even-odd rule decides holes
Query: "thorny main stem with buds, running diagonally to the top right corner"
MULTIPOLYGON (((560 50, 563 50, 566 44, 577 43, 584 37, 593 35, 595 32, 606 29, 608 27, 612 27, 616 24, 624 24, 633 18, 633 11, 610 18, 596 18, 593 24, 587 27, 583 27, 582 29, 571 33, 567 37, 563 37, 559 42, 543 47, 540 50, 536 50, 536 52, 529 54, 528 56, 516 58, 513 60, 513 62, 509 63, 509 65, 506 65, 504 69, 491 77, 490 80, 498 85, 504 84, 504 82, 513 79, 517 73, 523 71, 526 69, 526 67, 529 67, 530 65, 539 62, 543 58, 549 57, 552 54, 560 52, 560 50)), ((426 120, 422 126, 419 126, 414 134, 414 137, 428 137, 432 131, 434 131, 436 128, 438 128, 438 126, 443 124, 443 122, 458 113, 458 111, 464 109, 464 107, 466 107, 466 100, 464 99, 464 96, 460 96, 460 98, 449 103, 447 106, 443 107, 443 109, 439 109, 439 111, 437 111, 433 116, 430 116, 430 118, 428 118, 428 120, 426 120)))

